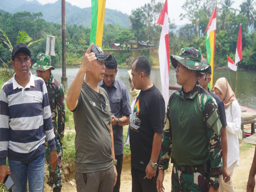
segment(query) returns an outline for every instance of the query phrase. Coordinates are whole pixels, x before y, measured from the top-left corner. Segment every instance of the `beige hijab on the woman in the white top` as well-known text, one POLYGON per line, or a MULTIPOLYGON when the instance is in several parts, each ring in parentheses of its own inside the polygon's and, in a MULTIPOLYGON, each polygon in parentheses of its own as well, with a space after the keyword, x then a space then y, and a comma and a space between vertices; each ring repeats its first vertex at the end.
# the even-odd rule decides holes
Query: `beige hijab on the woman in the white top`
MULTIPOLYGON (((214 92, 215 89, 219 89, 221 91, 221 93, 224 95, 224 108, 228 108, 228 106, 230 105, 230 103, 232 101, 237 101, 235 93, 232 91, 227 79, 225 77, 221 77, 219 78, 215 85, 214 85, 214 92)), ((238 101, 237 101, 238 102, 238 101)))

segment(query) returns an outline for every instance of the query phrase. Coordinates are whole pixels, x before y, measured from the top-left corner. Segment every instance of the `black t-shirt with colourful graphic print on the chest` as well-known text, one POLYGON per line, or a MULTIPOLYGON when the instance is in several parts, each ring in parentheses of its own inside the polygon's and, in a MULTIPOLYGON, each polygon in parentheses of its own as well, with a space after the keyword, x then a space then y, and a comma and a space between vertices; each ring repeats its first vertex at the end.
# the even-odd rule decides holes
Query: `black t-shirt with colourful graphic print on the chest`
POLYGON ((141 91, 129 124, 131 164, 145 171, 149 163, 155 132, 163 131, 165 104, 161 92, 153 87, 141 91))

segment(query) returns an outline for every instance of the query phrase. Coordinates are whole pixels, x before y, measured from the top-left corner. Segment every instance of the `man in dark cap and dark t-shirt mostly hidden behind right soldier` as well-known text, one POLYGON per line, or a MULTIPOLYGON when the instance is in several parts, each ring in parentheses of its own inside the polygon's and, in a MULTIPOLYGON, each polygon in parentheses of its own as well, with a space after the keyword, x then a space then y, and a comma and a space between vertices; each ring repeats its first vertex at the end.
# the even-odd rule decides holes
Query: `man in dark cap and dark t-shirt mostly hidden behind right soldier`
MULTIPOLYGON (((201 60, 204 64, 209 65, 209 63, 205 60, 201 60)), ((220 120, 222 124, 222 129, 221 129, 221 149, 222 149, 222 180, 224 182, 228 182, 230 180, 230 172, 228 170, 228 165, 227 165, 227 154, 228 154, 228 143, 227 143, 227 133, 226 133, 226 114, 225 114, 225 108, 224 108, 224 103, 223 101, 213 92, 211 92, 208 88, 208 84, 211 81, 211 66, 209 65, 208 70, 206 73, 199 73, 199 76, 197 78, 198 83, 200 84, 201 87, 203 87, 205 90, 209 92, 209 94, 216 100, 217 105, 218 105, 218 111, 220 114, 220 120)), ((220 183, 222 182, 220 180, 220 183)))

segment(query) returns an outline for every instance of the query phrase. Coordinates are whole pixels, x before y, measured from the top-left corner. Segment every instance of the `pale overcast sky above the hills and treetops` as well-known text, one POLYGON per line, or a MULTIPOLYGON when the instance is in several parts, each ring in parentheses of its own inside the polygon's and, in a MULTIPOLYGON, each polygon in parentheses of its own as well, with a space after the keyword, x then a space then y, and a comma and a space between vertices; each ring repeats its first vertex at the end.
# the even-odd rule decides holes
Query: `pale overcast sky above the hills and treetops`
MULTIPOLYGON (((31 1, 31 0, 27 0, 31 1)), ((53 3, 57 0, 37 0, 41 4, 53 3)), ((165 0, 160 0, 164 2, 165 0)), ((188 20, 180 20, 180 14, 184 13, 182 11, 181 6, 184 4, 186 0, 169 0, 168 1, 168 15, 171 20, 174 19, 174 23, 176 25, 183 25, 185 23, 189 23, 188 20)), ((239 9, 239 5, 242 0, 234 0, 232 8, 239 9)), ((85 8, 91 7, 91 0, 66 0, 66 2, 70 2, 72 5, 85 8)), ((150 0, 106 0, 106 8, 116 9, 128 15, 131 14, 132 9, 136 9, 138 7, 143 6, 146 3, 150 3, 150 0)))

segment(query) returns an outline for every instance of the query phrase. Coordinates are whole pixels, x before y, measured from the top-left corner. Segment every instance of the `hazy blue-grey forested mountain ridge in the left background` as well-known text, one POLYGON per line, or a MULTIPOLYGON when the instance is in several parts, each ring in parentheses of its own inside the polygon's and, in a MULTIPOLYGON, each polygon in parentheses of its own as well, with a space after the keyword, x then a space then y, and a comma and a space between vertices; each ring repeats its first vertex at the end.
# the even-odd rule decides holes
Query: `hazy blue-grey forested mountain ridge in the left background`
MULTIPOLYGON (((42 12, 43 19, 48 22, 54 22, 61 24, 61 0, 56 1, 53 4, 42 5, 38 1, 26 1, 26 0, 0 0, 0 9, 9 12, 16 13, 22 11, 28 12, 42 12)), ((66 2, 66 24, 78 24, 90 28, 91 26, 91 8, 79 8, 72 6, 69 2, 66 2)), ((130 22, 128 15, 120 11, 106 8, 105 10, 105 24, 111 23, 113 25, 119 24, 120 27, 128 28, 130 22)))

